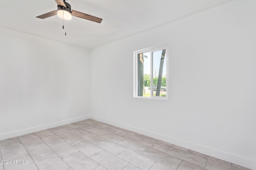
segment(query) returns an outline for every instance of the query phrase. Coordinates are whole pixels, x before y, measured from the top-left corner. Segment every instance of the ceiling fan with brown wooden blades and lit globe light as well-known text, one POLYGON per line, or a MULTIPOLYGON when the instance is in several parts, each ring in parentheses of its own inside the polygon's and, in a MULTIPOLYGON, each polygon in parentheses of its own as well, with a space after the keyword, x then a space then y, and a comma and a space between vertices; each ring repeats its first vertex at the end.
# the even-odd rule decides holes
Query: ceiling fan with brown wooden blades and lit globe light
POLYGON ((58 15, 58 17, 60 17, 63 20, 71 20, 72 16, 75 17, 79 17, 79 18, 83 18, 86 20, 90 20, 90 21, 94 21, 94 22, 98 22, 101 23, 102 19, 95 17, 95 16, 91 16, 88 14, 84 14, 82 12, 78 12, 75 10, 71 10, 71 5, 68 4, 66 2, 66 0, 55 0, 56 3, 58 4, 57 10, 52 11, 52 12, 48 12, 46 14, 37 16, 36 18, 41 18, 41 19, 45 19, 51 16, 55 16, 58 15))

